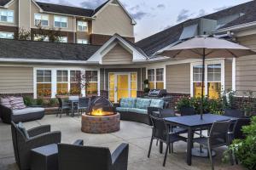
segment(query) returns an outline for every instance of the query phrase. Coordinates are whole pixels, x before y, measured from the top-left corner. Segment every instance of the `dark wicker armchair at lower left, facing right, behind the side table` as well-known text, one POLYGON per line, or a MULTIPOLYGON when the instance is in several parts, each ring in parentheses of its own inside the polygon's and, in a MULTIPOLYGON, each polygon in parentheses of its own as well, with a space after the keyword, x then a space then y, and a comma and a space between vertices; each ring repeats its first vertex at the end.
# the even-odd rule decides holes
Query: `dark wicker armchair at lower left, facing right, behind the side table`
POLYGON ((11 122, 15 161, 20 170, 30 169, 31 150, 47 144, 61 142, 61 132, 50 132, 50 126, 35 127, 27 131, 29 139, 20 131, 15 122, 11 122))

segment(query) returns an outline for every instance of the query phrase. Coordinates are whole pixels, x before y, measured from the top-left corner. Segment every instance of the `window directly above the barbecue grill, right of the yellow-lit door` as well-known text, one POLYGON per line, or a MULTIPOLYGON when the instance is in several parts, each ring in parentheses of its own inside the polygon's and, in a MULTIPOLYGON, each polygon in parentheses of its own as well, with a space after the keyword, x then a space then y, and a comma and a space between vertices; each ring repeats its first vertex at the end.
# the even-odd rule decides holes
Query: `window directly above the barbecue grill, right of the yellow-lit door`
POLYGON ((164 69, 149 69, 148 70, 148 83, 150 89, 163 89, 164 88, 164 69))

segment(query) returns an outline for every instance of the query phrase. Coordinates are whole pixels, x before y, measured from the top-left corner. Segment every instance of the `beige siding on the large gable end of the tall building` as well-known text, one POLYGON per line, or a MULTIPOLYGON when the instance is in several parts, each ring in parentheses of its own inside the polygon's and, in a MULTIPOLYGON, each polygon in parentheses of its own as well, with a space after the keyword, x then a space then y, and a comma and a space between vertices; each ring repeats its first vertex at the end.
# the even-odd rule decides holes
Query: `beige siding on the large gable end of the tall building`
POLYGON ((113 35, 118 33, 124 37, 134 37, 131 19, 120 6, 109 4, 97 14, 92 21, 92 33, 113 35))

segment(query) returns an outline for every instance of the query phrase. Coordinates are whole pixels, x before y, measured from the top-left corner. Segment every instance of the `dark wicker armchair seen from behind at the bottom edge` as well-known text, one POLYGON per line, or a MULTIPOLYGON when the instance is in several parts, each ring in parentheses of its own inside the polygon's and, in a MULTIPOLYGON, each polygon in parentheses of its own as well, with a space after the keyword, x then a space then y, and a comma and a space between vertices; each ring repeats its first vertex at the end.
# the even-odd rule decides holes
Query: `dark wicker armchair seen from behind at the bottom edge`
POLYGON ((59 170, 127 170, 128 144, 110 154, 108 148, 79 144, 58 144, 59 170))

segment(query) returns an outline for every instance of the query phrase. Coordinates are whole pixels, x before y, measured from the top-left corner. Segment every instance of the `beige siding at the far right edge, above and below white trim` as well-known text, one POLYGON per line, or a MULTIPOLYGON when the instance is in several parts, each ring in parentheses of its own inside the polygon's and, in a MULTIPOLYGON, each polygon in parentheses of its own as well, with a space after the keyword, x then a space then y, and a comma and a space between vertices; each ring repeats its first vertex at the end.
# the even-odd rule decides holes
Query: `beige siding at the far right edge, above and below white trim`
MULTIPOLYGON (((241 45, 256 50, 256 35, 239 37, 241 45)), ((256 94, 256 55, 236 59, 236 91, 243 95, 248 90, 256 94)))

